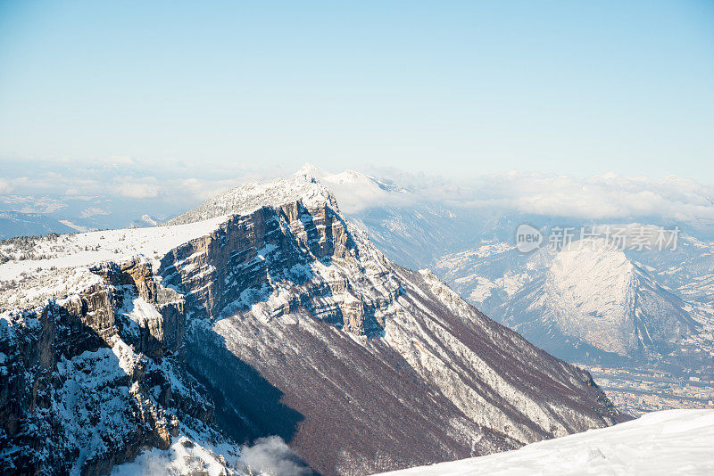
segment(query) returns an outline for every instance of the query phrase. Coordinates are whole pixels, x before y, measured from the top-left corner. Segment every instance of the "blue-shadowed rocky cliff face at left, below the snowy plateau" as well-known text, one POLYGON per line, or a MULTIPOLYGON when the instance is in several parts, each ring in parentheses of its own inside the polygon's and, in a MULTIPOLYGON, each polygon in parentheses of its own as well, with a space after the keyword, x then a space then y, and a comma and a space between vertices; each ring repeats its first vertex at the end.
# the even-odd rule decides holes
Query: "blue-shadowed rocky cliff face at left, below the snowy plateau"
POLYGON ((167 300, 141 259, 92 269, 102 283, 0 320, 2 472, 108 474, 168 448, 182 421, 212 422, 178 357, 183 300, 167 300), (132 299, 156 318, 129 325, 132 299))

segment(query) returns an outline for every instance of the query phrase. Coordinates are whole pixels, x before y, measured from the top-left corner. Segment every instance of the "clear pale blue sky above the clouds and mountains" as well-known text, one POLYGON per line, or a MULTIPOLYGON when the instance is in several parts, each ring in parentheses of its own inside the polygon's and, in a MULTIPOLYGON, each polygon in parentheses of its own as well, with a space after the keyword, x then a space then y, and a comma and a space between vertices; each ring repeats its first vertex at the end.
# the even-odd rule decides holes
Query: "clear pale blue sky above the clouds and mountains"
POLYGON ((0 165, 113 155, 714 184, 714 2, 0 0, 0 165))

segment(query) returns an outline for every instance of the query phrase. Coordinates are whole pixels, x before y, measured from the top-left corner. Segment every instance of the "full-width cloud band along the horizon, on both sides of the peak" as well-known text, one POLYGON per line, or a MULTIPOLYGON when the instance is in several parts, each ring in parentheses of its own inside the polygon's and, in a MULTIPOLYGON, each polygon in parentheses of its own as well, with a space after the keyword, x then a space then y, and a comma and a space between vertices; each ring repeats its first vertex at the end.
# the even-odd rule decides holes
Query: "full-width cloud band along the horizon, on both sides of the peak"
MULTIPOLYGON (((308 164, 298 174, 315 176, 333 188, 347 214, 385 206, 437 203, 447 209, 483 214, 601 221, 647 219, 714 226, 714 188, 688 178, 613 173, 582 178, 511 171, 453 180, 394 168, 365 170, 366 174, 352 170, 334 174, 308 164)), ((125 226, 111 221, 122 203, 133 203, 153 216, 170 216, 242 183, 289 176, 291 172, 262 164, 187 163, 126 156, 4 160, 0 211, 62 214, 70 201, 86 201, 86 206, 75 206, 82 209, 78 216, 99 217, 95 211, 102 209, 108 226, 125 226)))

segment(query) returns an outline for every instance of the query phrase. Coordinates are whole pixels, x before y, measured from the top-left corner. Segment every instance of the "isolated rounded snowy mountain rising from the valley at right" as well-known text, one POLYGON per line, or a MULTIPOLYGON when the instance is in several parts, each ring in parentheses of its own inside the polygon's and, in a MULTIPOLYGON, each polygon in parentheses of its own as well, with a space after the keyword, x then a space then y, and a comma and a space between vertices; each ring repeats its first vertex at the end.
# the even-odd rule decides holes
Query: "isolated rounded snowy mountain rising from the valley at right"
POLYGON ((542 344, 560 333, 575 346, 629 357, 668 354, 696 325, 681 299, 600 239, 561 250, 543 277, 514 294, 502 319, 542 344))

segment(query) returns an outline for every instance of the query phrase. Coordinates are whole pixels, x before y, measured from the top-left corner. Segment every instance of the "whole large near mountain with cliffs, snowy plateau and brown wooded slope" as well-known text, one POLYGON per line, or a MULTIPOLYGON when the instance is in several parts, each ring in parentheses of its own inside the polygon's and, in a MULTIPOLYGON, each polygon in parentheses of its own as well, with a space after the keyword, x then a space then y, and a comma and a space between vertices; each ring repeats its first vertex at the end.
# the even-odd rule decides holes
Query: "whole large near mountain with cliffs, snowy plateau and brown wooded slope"
POLYGON ((237 449, 256 441, 299 472, 368 473, 628 418, 589 373, 386 259, 313 177, 0 252, 4 469, 260 471, 237 449))

